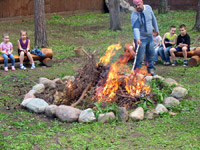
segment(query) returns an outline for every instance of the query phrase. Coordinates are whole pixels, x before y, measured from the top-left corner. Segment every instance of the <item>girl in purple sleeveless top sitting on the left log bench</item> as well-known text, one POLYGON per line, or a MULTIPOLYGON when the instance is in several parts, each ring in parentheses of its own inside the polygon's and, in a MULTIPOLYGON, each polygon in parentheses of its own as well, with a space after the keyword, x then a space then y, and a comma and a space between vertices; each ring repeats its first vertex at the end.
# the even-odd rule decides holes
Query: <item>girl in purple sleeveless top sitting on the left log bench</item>
POLYGON ((30 40, 27 37, 26 31, 20 31, 21 38, 17 41, 18 43, 18 53, 20 55, 20 69, 25 70, 26 67, 23 65, 24 56, 27 56, 31 63, 31 69, 35 69, 35 63, 30 51, 30 40))

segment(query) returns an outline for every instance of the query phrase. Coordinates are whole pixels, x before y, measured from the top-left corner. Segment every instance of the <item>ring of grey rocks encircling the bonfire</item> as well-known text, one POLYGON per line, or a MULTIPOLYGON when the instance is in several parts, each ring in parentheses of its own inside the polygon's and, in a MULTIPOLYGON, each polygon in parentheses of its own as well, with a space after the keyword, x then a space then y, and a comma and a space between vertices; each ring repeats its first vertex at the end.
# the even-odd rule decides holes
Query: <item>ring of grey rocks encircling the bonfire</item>
MULTIPOLYGON (((158 104, 155 109, 148 110, 146 113, 142 107, 136 108, 130 114, 125 107, 118 108, 118 119, 126 122, 128 120, 141 121, 146 119, 154 119, 160 113, 168 112, 167 108, 180 105, 180 99, 188 94, 188 90, 179 85, 175 80, 171 78, 163 78, 161 76, 146 76, 146 81, 154 79, 160 79, 169 85, 176 85, 172 90, 171 96, 164 99, 163 104, 158 104)), ((74 76, 65 76, 62 79, 49 80, 47 78, 40 78, 39 83, 33 86, 33 88, 25 95, 21 106, 27 108, 35 113, 44 113, 47 117, 56 117, 63 122, 94 122, 99 121, 107 123, 116 118, 113 112, 107 112, 99 114, 98 118, 95 117, 92 108, 80 110, 66 105, 49 105, 45 100, 36 98, 35 94, 42 93, 45 88, 55 88, 57 82, 74 81, 74 76)), ((176 115, 176 113, 169 112, 170 115, 176 115)))

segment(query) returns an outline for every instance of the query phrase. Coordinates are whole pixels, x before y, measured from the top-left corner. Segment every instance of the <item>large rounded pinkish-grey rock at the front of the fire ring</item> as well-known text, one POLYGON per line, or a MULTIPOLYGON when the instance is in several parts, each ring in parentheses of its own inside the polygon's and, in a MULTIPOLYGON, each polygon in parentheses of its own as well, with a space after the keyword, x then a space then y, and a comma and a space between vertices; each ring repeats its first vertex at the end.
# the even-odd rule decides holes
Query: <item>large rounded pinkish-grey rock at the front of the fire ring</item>
POLYGON ((71 106, 60 105, 56 108, 56 116, 63 122, 78 121, 80 113, 80 109, 71 106))

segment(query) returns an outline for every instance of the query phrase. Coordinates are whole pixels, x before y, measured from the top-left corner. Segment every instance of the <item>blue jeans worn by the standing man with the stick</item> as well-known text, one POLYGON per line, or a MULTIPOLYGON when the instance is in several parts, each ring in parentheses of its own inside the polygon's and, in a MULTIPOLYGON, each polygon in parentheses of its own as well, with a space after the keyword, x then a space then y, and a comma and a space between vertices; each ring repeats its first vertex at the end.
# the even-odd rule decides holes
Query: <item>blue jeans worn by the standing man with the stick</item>
MULTIPOLYGON (((146 54, 146 62, 147 68, 148 69, 154 69, 154 54, 155 54, 155 49, 154 49, 154 43, 152 37, 149 37, 147 39, 142 39, 141 40, 142 44, 140 45, 140 48, 138 50, 137 54, 137 59, 136 59, 136 65, 135 68, 141 68, 142 67, 142 62, 144 60, 144 55, 146 54)), ((136 49, 137 49, 137 41, 135 40, 136 43, 136 49)))

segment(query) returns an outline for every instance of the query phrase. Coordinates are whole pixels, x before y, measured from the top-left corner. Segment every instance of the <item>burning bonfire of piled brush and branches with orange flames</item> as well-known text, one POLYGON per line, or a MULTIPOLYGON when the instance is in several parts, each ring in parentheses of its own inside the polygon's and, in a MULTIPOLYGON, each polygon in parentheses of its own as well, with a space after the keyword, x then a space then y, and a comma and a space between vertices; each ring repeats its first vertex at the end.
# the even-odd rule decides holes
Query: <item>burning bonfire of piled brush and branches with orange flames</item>
POLYGON ((112 57, 122 47, 113 44, 107 48, 104 56, 96 63, 94 53, 88 54, 88 64, 78 69, 75 81, 66 81, 57 85, 56 91, 47 91, 37 97, 56 105, 76 106, 87 99, 98 103, 115 103, 118 106, 132 108, 141 98, 150 96, 150 86, 146 84, 147 68, 137 73, 127 65, 132 55, 122 55, 110 63, 112 57))

